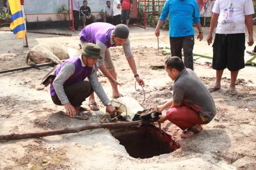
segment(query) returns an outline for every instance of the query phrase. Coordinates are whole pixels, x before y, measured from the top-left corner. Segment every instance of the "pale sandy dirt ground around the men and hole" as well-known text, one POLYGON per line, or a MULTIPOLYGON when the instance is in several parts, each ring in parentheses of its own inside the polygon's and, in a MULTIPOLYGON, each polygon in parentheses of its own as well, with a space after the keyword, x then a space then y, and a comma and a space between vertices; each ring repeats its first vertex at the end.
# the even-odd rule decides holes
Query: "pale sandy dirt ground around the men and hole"
MULTIPOLYGON (((207 33, 205 28, 205 33, 207 33)), ((163 65, 170 56, 158 53, 154 28, 131 28, 131 47, 138 74, 144 79, 146 101, 143 107, 163 104, 172 97, 172 80, 164 70, 151 70, 151 65, 163 65)), ((40 30, 42 31, 42 30, 40 30)), ((70 33, 66 29, 47 29, 47 32, 70 33)), ((255 31, 254 31, 255 32, 255 31)), ((204 41, 195 42, 194 52, 212 56, 212 48, 204 41)), ((255 35, 254 35, 255 36, 255 35)), ((256 37, 255 37, 256 40, 256 37)), ((79 31, 72 37, 28 33, 30 48, 23 48, 22 40, 15 40, 12 32, 0 31, 0 69, 24 66, 26 53, 39 42, 59 42, 79 49, 79 31)), ((168 32, 161 31, 160 47, 169 46, 168 32)), ((246 46, 247 49, 253 49, 246 46)), ((119 90, 140 103, 143 92, 135 91, 135 79, 120 47, 110 49, 119 90)), ((246 54, 246 57, 247 56, 246 54)), ((99 122, 100 112, 86 121, 64 115, 64 107, 52 103, 49 87, 40 85, 51 67, 30 69, 0 75, 0 134, 71 128, 99 122)), ((195 61, 195 72, 207 88, 214 84, 215 71, 210 60, 195 61)), ((110 83, 99 76, 108 96, 110 83)), ((256 169, 256 76, 255 67, 246 66, 238 75, 238 95, 226 94, 230 83, 225 70, 222 87, 212 94, 217 115, 204 131, 194 138, 181 139, 181 130, 166 121, 162 127, 181 147, 170 153, 149 159, 135 159, 106 129, 87 130, 75 134, 0 142, 0 169, 256 169)), ((103 105, 97 99, 102 111, 103 105)), ((83 105, 86 107, 88 101, 83 105)))

